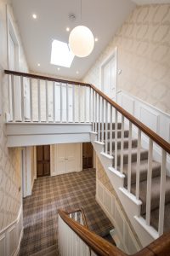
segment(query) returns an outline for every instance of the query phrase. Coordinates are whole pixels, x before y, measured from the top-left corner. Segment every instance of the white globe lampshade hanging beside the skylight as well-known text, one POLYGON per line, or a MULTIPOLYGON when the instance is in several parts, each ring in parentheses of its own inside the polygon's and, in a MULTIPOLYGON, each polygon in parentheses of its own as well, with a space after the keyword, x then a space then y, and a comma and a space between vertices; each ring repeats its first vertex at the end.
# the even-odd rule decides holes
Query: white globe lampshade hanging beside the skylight
POLYGON ((94 49, 94 35, 87 26, 76 26, 70 33, 69 46, 74 55, 86 57, 94 49))

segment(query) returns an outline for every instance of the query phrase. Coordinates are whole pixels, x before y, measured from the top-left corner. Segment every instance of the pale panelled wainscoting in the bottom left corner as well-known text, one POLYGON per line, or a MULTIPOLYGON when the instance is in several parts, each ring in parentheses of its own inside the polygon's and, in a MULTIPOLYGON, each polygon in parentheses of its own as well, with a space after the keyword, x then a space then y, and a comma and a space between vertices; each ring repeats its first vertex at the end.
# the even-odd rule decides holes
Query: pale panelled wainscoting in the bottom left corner
POLYGON ((20 252, 20 242, 23 236, 22 205, 18 217, 12 224, 0 232, 0 255, 17 256, 20 252))

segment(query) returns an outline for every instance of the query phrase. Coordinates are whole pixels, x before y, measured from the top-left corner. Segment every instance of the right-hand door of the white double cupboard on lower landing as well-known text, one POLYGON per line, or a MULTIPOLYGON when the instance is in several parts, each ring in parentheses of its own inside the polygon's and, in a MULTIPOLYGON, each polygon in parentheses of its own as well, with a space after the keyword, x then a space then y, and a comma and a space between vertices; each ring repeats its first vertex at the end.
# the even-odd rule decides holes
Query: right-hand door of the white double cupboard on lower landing
POLYGON ((76 143, 66 144, 66 172, 76 172, 76 143))

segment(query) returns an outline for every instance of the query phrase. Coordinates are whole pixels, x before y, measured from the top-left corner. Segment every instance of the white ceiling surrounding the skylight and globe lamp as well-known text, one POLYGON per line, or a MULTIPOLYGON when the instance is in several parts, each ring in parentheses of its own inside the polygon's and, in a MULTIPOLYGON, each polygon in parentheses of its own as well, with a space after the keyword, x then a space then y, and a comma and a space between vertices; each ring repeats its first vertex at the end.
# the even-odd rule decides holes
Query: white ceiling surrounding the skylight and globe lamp
POLYGON ((118 27, 135 7, 130 0, 82 0, 82 21, 80 21, 81 0, 11 0, 14 15, 20 28, 26 59, 31 71, 58 75, 71 79, 82 79, 92 67, 99 54, 110 42, 118 27), (37 14, 37 20, 31 15, 37 14), (74 13, 77 20, 71 22, 68 16, 74 13), (86 58, 75 57, 71 68, 50 64, 53 39, 68 42, 67 26, 73 28, 88 26, 99 38, 94 51, 86 58), (37 63, 41 66, 37 67, 37 63), (76 72, 79 71, 79 74, 76 72))

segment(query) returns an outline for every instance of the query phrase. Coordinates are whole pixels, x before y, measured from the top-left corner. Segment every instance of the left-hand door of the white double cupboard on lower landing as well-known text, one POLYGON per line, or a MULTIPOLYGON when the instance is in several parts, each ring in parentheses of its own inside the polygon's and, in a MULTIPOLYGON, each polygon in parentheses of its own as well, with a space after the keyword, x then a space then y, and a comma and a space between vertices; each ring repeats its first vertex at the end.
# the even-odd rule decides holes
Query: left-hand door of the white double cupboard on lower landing
POLYGON ((66 172, 65 144, 57 145, 57 174, 66 172))

